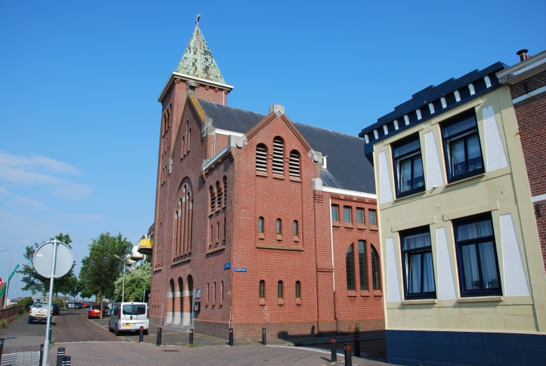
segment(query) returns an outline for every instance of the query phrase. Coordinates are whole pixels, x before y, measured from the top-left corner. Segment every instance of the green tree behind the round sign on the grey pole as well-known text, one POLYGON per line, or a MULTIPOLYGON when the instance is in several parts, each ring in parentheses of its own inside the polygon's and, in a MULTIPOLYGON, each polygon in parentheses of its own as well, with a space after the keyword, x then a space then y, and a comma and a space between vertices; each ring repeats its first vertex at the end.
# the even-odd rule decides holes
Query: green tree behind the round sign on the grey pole
MULTIPOLYGON (((50 241, 54 239, 62 241, 70 248, 72 248, 72 246, 70 246, 70 243, 72 243, 70 234, 59 233, 54 238, 49 238, 50 241)), ((25 283, 25 286, 22 288, 23 291, 31 291, 33 295, 36 295, 36 293, 40 293, 42 294, 42 296, 45 296, 47 291, 49 291, 49 278, 43 277, 38 272, 36 272, 32 261, 34 257, 34 252, 36 252, 36 249, 38 249, 40 245, 42 245, 42 243, 34 243, 34 245, 29 245, 25 248, 25 252, 23 255, 26 259, 26 264, 23 265, 23 268, 21 270, 17 270, 17 273, 21 273, 22 275, 24 275, 24 277, 22 277, 22 282, 25 283)), ((74 264, 72 264, 72 268, 70 268, 70 271, 66 275, 56 278, 54 280, 53 293, 58 295, 60 292, 65 295, 66 293, 64 291, 66 291, 65 288, 67 287, 67 283, 70 283, 74 278, 77 279, 74 274, 74 264)))

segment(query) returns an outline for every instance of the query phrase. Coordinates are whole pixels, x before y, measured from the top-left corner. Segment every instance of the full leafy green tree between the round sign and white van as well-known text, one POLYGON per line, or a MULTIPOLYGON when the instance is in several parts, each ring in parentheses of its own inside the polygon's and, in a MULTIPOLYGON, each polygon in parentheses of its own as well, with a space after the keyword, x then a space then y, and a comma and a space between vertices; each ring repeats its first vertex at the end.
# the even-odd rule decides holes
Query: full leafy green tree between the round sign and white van
MULTIPOLYGON (((114 281, 118 277, 123 263, 114 257, 125 258, 131 252, 132 243, 118 233, 111 236, 109 232, 100 234, 88 245, 89 255, 81 259, 79 280, 81 291, 95 293, 102 305, 102 298, 114 295, 114 281)), ((102 312, 100 313, 102 318, 102 312)))

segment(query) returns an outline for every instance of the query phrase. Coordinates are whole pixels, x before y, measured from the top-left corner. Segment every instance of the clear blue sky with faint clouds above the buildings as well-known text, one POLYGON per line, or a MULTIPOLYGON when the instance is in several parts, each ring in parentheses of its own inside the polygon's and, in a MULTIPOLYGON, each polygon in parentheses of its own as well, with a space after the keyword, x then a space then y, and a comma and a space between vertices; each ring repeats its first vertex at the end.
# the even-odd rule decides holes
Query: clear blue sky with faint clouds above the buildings
MULTIPOLYGON (((12 268, 61 231, 79 265, 102 232, 136 244, 148 231, 157 97, 196 13, 235 86, 228 105, 277 103, 352 135, 426 86, 546 49, 544 1, 1 1, 0 248, 12 268)), ((7 266, 0 252, 0 277, 7 266)))

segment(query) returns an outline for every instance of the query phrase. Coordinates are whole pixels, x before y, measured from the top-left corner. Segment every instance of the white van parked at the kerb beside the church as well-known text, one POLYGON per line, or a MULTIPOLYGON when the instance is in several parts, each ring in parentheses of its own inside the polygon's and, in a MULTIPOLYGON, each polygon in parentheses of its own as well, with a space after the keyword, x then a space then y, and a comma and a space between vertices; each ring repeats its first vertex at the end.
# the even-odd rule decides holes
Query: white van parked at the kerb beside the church
POLYGON ((125 330, 139 331, 144 327, 144 334, 148 334, 150 326, 148 303, 114 303, 111 305, 108 330, 120 335, 125 330))

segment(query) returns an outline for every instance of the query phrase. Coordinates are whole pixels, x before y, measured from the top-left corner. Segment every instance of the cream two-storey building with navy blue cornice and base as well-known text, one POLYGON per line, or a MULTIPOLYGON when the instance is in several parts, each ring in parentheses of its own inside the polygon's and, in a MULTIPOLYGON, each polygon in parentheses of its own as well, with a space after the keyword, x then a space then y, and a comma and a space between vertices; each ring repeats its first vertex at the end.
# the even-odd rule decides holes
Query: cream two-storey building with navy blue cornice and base
POLYGON ((389 363, 546 365, 546 280, 495 63, 362 130, 375 167, 389 363))

